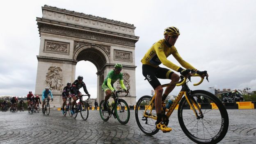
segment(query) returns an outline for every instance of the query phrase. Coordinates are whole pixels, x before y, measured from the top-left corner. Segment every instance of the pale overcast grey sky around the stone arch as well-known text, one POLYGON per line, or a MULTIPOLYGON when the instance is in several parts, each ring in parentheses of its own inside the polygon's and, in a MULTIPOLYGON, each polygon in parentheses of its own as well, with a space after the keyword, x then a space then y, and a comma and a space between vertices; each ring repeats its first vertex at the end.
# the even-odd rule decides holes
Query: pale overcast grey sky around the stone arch
MULTIPOLYGON (((30 90, 34 93, 40 43, 35 20, 42 17, 43 5, 134 24, 135 35, 140 37, 135 47, 137 99, 149 95, 152 89, 144 81, 140 60, 153 43, 163 38, 163 30, 169 26, 181 32, 175 44, 181 57, 210 75, 210 82, 190 85, 191 89, 214 86, 256 90, 255 0, 9 0, 0 5, 0 95, 25 96, 30 90)), ((172 56, 168 59, 179 65, 172 56)), ((88 91, 95 98, 96 67, 90 62, 78 62, 76 75, 87 75, 88 91)), ((177 87, 171 94, 178 94, 180 89, 177 87)))

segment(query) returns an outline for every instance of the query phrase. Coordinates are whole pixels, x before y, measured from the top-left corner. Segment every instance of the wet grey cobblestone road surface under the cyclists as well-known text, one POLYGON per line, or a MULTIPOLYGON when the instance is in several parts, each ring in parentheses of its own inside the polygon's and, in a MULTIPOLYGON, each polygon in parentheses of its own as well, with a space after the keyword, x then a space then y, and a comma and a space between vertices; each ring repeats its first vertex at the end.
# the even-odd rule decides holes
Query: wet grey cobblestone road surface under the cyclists
MULTIPOLYGON (((98 110, 89 110, 83 121, 64 117, 52 110, 46 116, 40 113, 0 112, 0 144, 188 144, 193 143, 181 130, 177 110, 170 118, 170 133, 158 132, 153 136, 142 133, 131 110, 130 121, 121 125, 111 117, 104 122, 98 110)), ((256 109, 228 110, 229 131, 220 144, 256 144, 256 109)))

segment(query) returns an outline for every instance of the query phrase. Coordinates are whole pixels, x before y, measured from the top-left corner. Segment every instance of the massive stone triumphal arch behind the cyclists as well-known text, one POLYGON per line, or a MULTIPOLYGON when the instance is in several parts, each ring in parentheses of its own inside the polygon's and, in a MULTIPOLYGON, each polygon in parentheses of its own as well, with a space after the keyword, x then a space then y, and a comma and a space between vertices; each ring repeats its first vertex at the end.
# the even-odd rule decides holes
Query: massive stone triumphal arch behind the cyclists
MULTIPOLYGON (((124 83, 130 89, 130 95, 121 98, 128 105, 136 104, 135 43, 139 37, 134 34, 134 25, 48 5, 42 7, 42 12, 42 18, 37 17, 41 41, 35 94, 41 97, 43 89, 50 87, 54 98, 51 105, 59 107, 63 87, 75 80, 77 62, 85 60, 97 68, 100 102, 105 96, 101 89, 104 78, 114 64, 121 63, 124 83)), ((119 89, 119 81, 114 86, 119 89)))

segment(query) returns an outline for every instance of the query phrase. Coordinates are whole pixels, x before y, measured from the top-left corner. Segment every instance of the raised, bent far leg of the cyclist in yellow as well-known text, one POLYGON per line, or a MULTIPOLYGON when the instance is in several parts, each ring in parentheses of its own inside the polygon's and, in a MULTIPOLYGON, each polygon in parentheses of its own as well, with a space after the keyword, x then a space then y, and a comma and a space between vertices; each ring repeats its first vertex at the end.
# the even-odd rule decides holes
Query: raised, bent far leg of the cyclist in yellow
MULTIPOLYGON (((156 77, 160 79, 170 79, 170 83, 178 82, 180 80, 180 77, 178 74, 174 73, 173 71, 162 68, 158 66, 156 69, 156 77)), ((162 101, 165 101, 165 98, 168 96, 168 94, 175 88, 176 85, 170 85, 166 87, 165 92, 162 96, 162 101)))

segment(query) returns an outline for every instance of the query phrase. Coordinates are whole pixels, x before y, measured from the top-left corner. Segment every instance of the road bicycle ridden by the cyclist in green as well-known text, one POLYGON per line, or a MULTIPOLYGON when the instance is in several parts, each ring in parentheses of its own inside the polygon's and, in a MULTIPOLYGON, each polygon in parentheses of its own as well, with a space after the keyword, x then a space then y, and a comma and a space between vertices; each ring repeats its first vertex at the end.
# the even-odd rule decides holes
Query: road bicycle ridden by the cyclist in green
POLYGON ((114 118, 117 118, 121 124, 128 123, 130 119, 130 109, 125 100, 118 98, 120 92, 126 92, 127 94, 125 96, 128 95, 128 91, 116 91, 115 95, 112 94, 111 97, 114 98, 114 103, 109 105, 107 101, 107 111, 103 110, 104 100, 101 101, 99 112, 103 121, 108 121, 113 114, 114 118))

